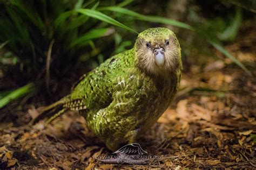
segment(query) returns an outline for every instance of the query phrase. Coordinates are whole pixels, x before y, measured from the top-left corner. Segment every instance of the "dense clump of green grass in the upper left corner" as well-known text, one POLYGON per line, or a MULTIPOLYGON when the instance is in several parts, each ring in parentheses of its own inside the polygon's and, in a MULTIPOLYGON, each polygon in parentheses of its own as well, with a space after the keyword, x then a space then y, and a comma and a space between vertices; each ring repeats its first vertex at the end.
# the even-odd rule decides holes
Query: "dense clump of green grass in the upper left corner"
POLYGON ((63 53, 73 58, 78 54, 77 51, 85 52, 80 49, 88 46, 87 42, 90 40, 109 35, 110 25, 136 32, 96 11, 99 5, 97 1, 55 0, 28 3, 10 0, 2 1, 0 5, 3 9, 0 14, 0 40, 8 41, 6 47, 22 61, 29 61, 27 65, 34 65, 37 70, 43 67, 44 62, 39 61, 45 61, 45 52, 53 39, 56 51, 64 49, 63 53), (102 22, 108 24, 104 25, 102 22))

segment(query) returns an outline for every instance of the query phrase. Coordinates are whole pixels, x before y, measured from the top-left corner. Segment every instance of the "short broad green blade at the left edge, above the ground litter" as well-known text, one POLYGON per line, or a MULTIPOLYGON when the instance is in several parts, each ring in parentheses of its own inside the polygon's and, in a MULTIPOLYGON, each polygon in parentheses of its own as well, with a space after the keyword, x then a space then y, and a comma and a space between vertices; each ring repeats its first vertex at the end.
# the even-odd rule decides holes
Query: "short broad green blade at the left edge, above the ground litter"
POLYGON ((29 83, 25 86, 18 88, 14 91, 11 91, 6 96, 1 98, 0 100, 0 109, 3 108, 6 104, 10 103, 11 101, 17 100, 17 98, 22 97, 28 93, 31 93, 34 90, 34 84, 29 83))

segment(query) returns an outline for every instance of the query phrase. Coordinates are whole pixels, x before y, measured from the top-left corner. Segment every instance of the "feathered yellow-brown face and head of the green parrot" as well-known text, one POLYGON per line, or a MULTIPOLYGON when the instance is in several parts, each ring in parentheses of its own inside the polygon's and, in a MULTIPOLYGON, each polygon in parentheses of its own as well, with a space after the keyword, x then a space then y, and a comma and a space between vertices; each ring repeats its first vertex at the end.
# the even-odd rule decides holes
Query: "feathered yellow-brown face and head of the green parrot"
POLYGON ((135 44, 139 68, 150 74, 175 72, 180 63, 180 46, 175 34, 166 28, 147 29, 135 44))

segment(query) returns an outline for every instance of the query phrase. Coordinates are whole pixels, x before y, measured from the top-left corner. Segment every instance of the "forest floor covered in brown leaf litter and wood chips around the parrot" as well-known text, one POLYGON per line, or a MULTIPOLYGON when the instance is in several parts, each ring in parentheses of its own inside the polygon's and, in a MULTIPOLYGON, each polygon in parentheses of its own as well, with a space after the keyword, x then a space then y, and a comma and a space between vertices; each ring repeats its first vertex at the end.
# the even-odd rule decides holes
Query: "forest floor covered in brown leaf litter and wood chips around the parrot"
POLYGON ((214 49, 219 58, 191 54, 193 61, 184 63, 180 90, 171 107, 138 139, 147 155, 159 156, 147 159, 144 165, 107 164, 96 159, 111 152, 93 137, 77 113, 67 112, 47 127, 42 122, 29 125, 37 114, 31 107, 17 113, 16 120, 1 122, 0 169, 255 169, 255 44, 254 29, 225 46, 253 76, 214 49))

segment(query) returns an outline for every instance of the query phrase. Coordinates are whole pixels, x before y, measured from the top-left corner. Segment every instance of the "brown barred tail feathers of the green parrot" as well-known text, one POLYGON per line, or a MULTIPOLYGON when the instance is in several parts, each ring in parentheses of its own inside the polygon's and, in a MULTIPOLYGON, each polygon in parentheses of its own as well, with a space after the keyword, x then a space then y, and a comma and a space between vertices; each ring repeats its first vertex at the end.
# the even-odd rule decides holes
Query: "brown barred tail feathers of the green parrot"
POLYGON ((49 105, 44 108, 39 115, 31 121, 31 124, 35 124, 38 121, 48 118, 46 120, 46 125, 51 123, 54 119, 62 115, 66 110, 83 110, 86 109, 86 106, 83 104, 83 101, 80 99, 71 100, 70 96, 65 96, 59 101, 49 105))

